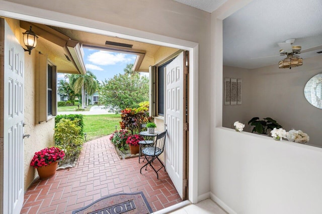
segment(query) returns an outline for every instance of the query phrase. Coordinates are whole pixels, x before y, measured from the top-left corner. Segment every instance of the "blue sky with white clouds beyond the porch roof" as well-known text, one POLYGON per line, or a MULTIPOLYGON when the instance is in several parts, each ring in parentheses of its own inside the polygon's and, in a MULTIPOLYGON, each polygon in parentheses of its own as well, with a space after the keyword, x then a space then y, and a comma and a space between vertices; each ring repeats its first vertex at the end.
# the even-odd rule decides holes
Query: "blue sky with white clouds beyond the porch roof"
MULTIPOLYGON (((100 82, 123 74, 127 64, 134 64, 136 55, 116 52, 84 49, 84 63, 87 71, 91 71, 100 82)), ((58 74, 58 80, 64 79, 64 74, 58 74)))

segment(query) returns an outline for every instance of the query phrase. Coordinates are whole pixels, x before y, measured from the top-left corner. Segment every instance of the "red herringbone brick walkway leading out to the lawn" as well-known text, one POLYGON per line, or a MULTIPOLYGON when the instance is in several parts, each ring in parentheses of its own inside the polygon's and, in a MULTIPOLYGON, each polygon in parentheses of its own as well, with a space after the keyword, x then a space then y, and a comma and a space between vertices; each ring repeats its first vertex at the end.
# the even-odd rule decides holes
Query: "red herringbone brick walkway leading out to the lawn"
POLYGON ((21 213, 71 213, 120 192, 143 191, 153 211, 182 201, 163 169, 157 179, 149 167, 140 174, 142 165, 138 157, 120 160, 109 136, 86 142, 76 167, 30 186, 21 213))

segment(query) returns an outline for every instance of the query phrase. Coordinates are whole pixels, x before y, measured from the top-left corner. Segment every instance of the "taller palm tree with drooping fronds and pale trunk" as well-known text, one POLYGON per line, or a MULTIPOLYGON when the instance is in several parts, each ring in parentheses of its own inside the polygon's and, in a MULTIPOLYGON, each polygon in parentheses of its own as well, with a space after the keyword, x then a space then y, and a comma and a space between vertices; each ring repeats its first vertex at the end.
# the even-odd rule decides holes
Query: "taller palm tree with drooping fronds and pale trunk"
POLYGON ((90 71, 87 71, 85 75, 70 75, 69 84, 76 94, 82 94, 82 108, 86 108, 86 103, 88 103, 87 94, 93 95, 98 88, 96 76, 90 71))

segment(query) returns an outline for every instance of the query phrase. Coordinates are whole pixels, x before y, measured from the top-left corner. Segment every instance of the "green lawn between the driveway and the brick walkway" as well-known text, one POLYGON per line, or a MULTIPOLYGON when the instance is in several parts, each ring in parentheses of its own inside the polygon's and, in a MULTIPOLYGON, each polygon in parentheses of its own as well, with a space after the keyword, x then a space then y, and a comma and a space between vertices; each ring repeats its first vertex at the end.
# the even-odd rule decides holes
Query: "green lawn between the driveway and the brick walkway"
POLYGON ((84 115, 84 132, 87 133, 86 141, 112 134, 120 129, 120 114, 84 115))

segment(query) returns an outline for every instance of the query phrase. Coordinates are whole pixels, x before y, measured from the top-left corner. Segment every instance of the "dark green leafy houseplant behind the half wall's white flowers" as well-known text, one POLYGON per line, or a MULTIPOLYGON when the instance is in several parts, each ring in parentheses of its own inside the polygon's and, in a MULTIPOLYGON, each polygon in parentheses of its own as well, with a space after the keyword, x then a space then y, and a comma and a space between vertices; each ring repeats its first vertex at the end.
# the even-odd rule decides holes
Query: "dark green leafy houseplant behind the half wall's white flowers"
POLYGON ((276 120, 270 117, 263 118, 263 120, 260 120, 259 117, 253 117, 250 121, 248 121, 248 124, 254 126, 252 133, 256 131, 259 134, 267 134, 268 129, 273 130, 274 128, 282 128, 282 126, 278 124, 276 120))

